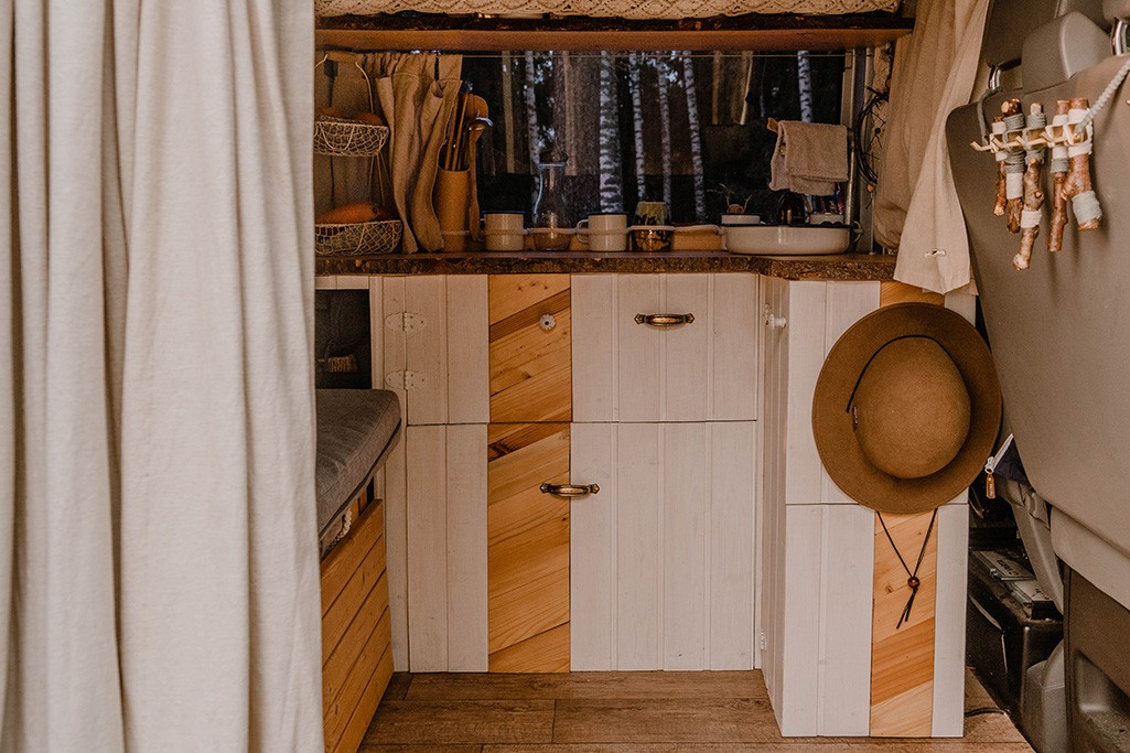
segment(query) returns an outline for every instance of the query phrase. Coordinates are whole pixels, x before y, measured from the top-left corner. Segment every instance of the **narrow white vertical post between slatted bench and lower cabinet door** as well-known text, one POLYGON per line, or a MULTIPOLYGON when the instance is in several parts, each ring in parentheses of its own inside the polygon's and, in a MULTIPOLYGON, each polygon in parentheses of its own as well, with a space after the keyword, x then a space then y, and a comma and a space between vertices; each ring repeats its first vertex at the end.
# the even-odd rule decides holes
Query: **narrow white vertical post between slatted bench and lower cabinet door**
POLYGON ((384 488, 384 556, 389 578, 389 615, 392 622, 392 666, 407 672, 408 661, 408 469, 407 440, 400 442, 381 469, 384 488))

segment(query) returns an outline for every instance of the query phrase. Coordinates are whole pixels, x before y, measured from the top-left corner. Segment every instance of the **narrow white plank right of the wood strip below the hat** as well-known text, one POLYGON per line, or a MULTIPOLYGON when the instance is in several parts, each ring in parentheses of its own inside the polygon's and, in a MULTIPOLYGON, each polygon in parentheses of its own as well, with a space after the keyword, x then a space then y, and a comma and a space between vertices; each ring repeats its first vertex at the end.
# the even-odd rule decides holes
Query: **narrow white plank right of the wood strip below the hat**
POLYGON ((965 711, 965 605, 970 517, 965 494, 938 509, 933 736, 960 737, 965 711))

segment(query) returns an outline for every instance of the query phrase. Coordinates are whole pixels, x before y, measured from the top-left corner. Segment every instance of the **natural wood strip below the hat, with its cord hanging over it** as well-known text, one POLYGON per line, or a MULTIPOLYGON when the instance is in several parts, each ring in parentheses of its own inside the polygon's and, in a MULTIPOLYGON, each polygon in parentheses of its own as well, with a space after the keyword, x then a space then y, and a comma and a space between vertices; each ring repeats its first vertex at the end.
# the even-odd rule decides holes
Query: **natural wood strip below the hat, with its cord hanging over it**
MULTIPOLYGON (((930 518, 930 512, 884 516, 890 537, 912 570, 925 540, 930 518)), ((870 730, 873 737, 931 734, 937 571, 936 528, 918 570, 921 586, 910 620, 897 626, 911 590, 906 585, 906 571, 876 517, 870 730)))

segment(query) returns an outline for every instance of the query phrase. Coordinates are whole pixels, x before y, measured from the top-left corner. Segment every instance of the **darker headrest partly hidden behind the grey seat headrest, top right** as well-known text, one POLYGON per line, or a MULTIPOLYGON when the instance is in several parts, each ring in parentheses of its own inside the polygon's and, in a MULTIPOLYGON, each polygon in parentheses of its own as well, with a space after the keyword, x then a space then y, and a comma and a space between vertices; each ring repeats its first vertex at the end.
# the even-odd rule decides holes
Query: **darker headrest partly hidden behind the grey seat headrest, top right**
POLYGON ((985 26, 981 61, 996 68, 1020 62, 1024 38, 1038 26, 1071 11, 1081 12, 1104 29, 1110 25, 1107 6, 1130 16, 1130 0, 993 0, 985 26))

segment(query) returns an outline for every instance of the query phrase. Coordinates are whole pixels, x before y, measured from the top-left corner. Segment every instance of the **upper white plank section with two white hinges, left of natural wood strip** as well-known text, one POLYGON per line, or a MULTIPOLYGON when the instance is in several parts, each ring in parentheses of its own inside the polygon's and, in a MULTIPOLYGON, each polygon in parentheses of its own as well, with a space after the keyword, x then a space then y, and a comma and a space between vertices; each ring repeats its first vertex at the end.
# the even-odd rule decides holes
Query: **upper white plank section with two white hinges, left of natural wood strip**
POLYGON ((485 275, 370 278, 373 384, 410 426, 490 421, 485 275))

